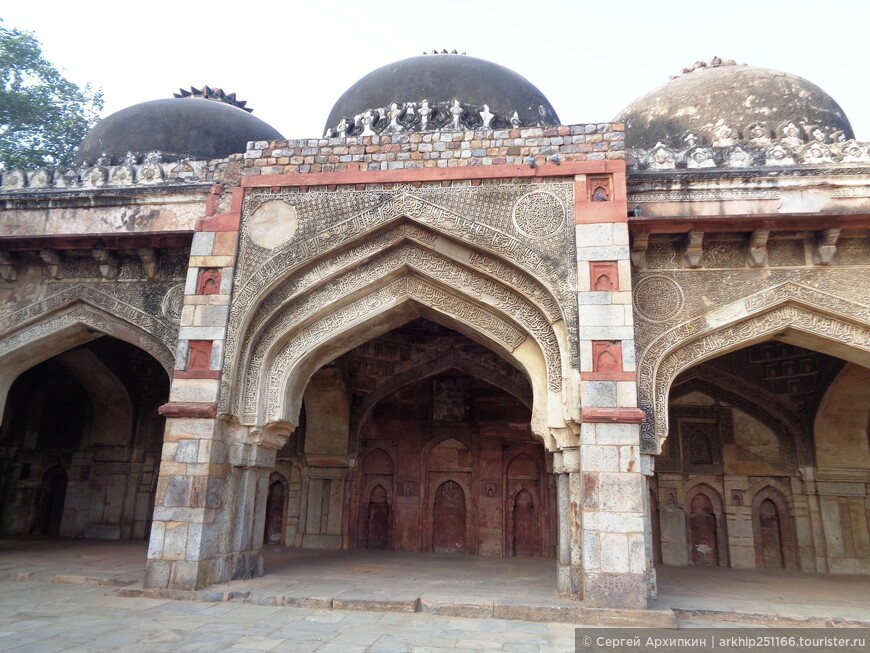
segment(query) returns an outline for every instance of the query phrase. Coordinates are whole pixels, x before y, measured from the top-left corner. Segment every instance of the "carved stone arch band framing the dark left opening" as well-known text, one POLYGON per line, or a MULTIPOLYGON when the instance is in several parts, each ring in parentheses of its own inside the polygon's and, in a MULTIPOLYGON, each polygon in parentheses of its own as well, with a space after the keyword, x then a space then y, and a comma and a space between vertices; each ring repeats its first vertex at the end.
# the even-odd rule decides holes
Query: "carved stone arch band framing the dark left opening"
POLYGON ((148 352, 171 376, 174 357, 162 341, 86 302, 75 302, 0 337, 0 420, 9 387, 23 372, 104 335, 148 352))

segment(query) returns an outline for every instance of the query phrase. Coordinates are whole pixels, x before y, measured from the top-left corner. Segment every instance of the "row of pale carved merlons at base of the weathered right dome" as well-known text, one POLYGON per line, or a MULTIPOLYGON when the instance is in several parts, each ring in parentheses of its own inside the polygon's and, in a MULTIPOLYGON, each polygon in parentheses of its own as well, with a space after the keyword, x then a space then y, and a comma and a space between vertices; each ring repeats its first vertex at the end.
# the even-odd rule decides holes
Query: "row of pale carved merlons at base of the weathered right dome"
POLYGON ((683 149, 657 143, 651 149, 630 150, 629 165, 639 171, 870 164, 870 143, 867 142, 832 142, 819 130, 809 130, 807 139, 792 122, 780 126, 777 134, 778 137, 771 138, 766 127, 753 123, 744 131, 744 138, 738 139, 735 129, 721 125, 712 138, 712 145, 699 144, 696 136, 688 134, 683 138, 687 145, 683 149))

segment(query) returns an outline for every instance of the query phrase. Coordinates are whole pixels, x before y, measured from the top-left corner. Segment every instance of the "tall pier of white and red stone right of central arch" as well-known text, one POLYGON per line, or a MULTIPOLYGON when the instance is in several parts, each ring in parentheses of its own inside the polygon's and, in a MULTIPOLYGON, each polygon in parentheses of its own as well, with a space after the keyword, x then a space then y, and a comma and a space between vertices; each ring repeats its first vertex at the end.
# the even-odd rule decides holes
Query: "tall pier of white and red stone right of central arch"
POLYGON ((624 162, 574 181, 582 473, 569 487, 582 524, 582 596, 591 607, 646 607, 652 467, 640 454, 624 162))

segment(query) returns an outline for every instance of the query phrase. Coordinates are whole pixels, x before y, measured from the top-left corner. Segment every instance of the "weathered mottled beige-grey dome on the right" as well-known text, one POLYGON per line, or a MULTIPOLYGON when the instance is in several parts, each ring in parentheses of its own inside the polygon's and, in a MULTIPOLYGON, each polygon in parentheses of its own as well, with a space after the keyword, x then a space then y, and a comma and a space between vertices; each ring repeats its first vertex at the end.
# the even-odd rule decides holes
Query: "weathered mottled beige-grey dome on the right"
POLYGON ((710 145, 722 125, 743 137, 759 123, 771 133, 792 122, 805 130, 821 129, 827 136, 839 132, 844 140, 854 138, 846 114, 815 84, 733 62, 696 65, 632 102, 615 120, 625 123, 631 148, 653 148, 659 142, 685 147, 687 133, 710 145))

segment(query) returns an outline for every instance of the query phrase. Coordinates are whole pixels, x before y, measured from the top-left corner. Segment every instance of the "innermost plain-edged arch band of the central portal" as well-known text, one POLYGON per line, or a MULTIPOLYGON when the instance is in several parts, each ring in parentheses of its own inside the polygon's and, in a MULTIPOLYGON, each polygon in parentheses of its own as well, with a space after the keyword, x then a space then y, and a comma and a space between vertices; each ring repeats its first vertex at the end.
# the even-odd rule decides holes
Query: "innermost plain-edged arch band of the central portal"
POLYGON ((274 360, 280 355, 280 351, 275 352, 272 356, 273 364, 269 366, 266 378, 278 379, 276 392, 273 400, 261 403, 264 406, 261 419, 264 422, 287 422, 295 426, 305 386, 314 372, 341 354, 418 317, 424 317, 462 333, 523 371, 532 387, 532 432, 543 440, 549 451, 564 446, 554 437, 554 433, 558 434, 560 428, 567 428, 561 413, 560 395, 553 393, 547 387, 544 354, 534 338, 526 337, 516 349, 510 351, 501 343, 453 316, 409 299, 367 315, 358 322, 337 326, 328 338, 306 350, 280 373, 274 365, 274 360), (556 410, 553 408, 554 405, 556 410), (553 413, 557 419, 553 419, 553 413))

